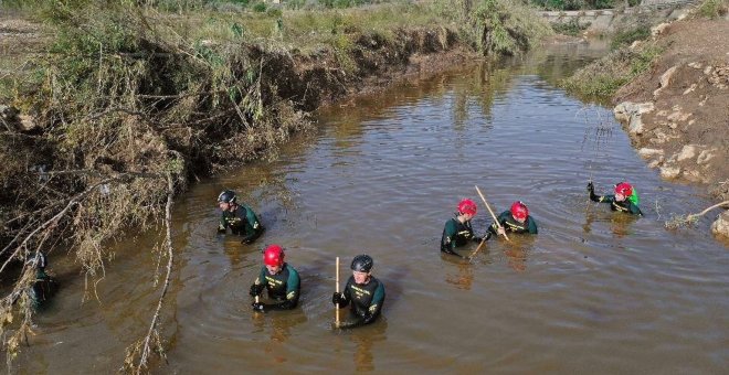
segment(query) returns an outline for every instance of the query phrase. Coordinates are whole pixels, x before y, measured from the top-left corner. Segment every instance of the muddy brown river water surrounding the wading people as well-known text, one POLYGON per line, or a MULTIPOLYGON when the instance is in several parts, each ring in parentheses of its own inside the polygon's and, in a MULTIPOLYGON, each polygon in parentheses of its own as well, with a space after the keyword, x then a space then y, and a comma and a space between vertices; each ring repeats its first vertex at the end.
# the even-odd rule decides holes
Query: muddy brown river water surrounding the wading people
MULTIPOLYGON (((314 133, 268 160, 196 184, 175 205, 167 363, 154 372, 726 372, 729 253, 707 235, 709 218, 700 231, 664 228, 670 213, 710 201, 662 181, 608 108, 553 85, 602 53, 554 47, 400 85, 321 113, 314 133), (646 216, 588 203, 591 175, 600 192, 633 182, 646 216), (442 256, 459 199, 478 202, 477 232, 490 222, 475 184, 499 212, 522 200, 539 235, 492 240, 472 265, 442 256), (262 216, 267 231, 255 244, 215 234, 224 188, 262 216), (272 243, 302 275, 302 303, 256 315, 247 290, 272 243), (344 283, 360 253, 385 285, 383 317, 336 332, 335 257, 344 283)), ((63 289, 13 367, 118 369, 156 304, 157 238, 119 243, 98 300, 84 303, 84 279, 52 256, 63 289)))

